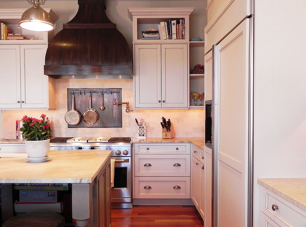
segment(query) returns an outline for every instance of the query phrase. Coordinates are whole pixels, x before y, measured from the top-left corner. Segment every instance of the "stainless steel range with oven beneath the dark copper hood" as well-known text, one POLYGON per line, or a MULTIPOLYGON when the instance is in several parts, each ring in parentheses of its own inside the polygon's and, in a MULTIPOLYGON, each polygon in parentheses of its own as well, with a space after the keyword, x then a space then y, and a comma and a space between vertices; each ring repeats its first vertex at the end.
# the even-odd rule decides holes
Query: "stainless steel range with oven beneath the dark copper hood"
POLYGON ((132 208, 132 142, 130 137, 57 137, 50 150, 111 150, 115 160, 112 207, 132 208))

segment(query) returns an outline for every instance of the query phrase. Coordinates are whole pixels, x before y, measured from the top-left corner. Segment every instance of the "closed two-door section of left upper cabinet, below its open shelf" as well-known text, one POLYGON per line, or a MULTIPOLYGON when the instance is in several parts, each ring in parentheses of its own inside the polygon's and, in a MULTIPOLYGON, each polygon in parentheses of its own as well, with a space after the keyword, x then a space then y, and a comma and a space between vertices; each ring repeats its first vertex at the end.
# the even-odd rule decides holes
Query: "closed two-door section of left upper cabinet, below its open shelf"
POLYGON ((54 80, 43 74, 46 50, 47 44, 1 45, 0 109, 54 108, 54 80))

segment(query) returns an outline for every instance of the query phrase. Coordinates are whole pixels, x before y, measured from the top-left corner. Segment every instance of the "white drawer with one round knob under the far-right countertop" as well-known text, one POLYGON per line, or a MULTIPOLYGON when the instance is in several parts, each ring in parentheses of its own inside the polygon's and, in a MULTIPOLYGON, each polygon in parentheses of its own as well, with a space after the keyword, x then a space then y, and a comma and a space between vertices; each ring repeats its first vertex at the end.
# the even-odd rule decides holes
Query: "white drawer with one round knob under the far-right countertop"
MULTIPOLYGON (((285 201, 284 201, 285 202, 285 201)), ((289 203, 289 202, 288 202, 289 203)), ((305 227, 306 226, 306 217, 287 204, 276 199, 271 194, 266 194, 266 210, 277 216, 279 219, 288 223, 288 226, 294 227, 305 227), (275 210, 272 209, 272 206, 275 205, 278 207, 275 210)))

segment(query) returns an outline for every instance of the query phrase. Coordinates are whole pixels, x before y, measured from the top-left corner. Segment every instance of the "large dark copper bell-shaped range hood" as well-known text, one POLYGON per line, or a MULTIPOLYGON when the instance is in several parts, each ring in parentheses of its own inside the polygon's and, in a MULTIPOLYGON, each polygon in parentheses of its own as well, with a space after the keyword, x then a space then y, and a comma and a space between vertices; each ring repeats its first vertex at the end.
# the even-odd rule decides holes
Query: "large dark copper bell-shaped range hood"
POLYGON ((53 78, 132 78, 132 55, 106 16, 105 0, 78 0, 76 16, 48 45, 44 74, 53 78))

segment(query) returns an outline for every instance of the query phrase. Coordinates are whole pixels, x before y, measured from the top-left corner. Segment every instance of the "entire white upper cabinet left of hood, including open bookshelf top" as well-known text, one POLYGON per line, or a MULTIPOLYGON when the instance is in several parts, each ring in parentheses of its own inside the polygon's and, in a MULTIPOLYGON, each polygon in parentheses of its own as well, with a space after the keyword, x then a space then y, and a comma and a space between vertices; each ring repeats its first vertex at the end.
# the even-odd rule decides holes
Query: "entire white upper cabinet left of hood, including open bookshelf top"
MULTIPOLYGON (((28 40, 0 40, 0 109, 54 109, 54 79, 43 74, 48 36, 17 28, 26 9, 0 9, 0 21, 28 40)), ((58 18, 47 9, 54 19, 58 18)))

